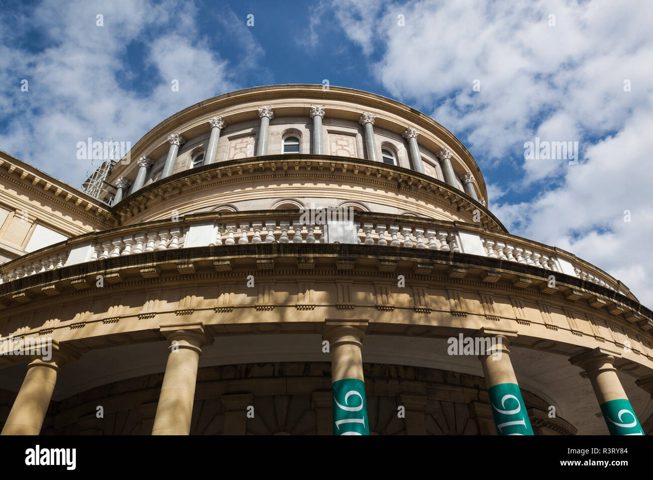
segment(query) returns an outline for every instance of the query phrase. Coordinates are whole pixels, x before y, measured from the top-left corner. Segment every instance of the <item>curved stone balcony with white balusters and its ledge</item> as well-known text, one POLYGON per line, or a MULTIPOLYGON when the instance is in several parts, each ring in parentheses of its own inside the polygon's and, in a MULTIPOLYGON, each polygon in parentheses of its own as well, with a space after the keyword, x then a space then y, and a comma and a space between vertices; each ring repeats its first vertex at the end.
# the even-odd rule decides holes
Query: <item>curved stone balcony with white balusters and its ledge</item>
MULTIPOLYGON (((210 248, 216 253, 225 249, 221 256, 237 256, 238 247, 257 244, 313 244, 311 252, 319 252, 319 246, 340 244, 343 248, 359 246, 374 252, 381 259, 381 269, 389 268, 384 266, 384 257, 400 255, 414 259, 414 271, 420 274, 435 272, 434 262, 424 259, 438 252, 437 258, 448 265, 448 276, 463 278, 470 268, 479 268, 482 281, 488 285, 502 279, 520 288, 537 285, 540 291, 562 294, 569 300, 584 298, 595 308, 606 308, 624 315, 631 323, 641 323, 646 330, 653 325, 649 318, 652 315, 646 314, 648 310, 639 306, 623 283, 564 250, 470 223, 353 210, 348 212, 349 217, 347 212, 338 213, 345 215, 334 214, 331 221, 319 225, 298 210, 210 212, 80 235, 0 266, 0 303, 6 307, 13 302, 29 301, 35 295, 33 289, 28 293, 29 285, 42 283, 38 277, 47 276, 48 272, 77 272, 82 266, 99 271, 103 270, 104 261, 131 265, 139 263, 141 255, 149 266, 138 271, 147 277, 150 270, 156 269, 150 257, 146 257, 148 253, 187 251, 184 255, 193 255, 194 249, 210 248), (118 261, 125 257, 132 257, 133 261, 118 261)), ((274 259, 266 261, 271 261, 274 268, 274 259)), ((355 256, 349 261, 353 266, 355 256)), ((178 263, 184 270, 186 263, 178 263)), ((263 259, 257 260, 257 264, 263 263, 263 259)), ((396 260, 388 264, 396 265, 396 260)), ((219 268, 217 264, 215 268, 219 268)), ((119 270, 109 274, 106 281, 120 280, 119 270)), ((188 266, 184 272, 193 274, 195 268, 188 266)), ((41 285, 40 291, 56 295, 61 290, 59 283, 41 285)), ((72 279, 70 285, 88 287, 87 281, 80 278, 72 279)))

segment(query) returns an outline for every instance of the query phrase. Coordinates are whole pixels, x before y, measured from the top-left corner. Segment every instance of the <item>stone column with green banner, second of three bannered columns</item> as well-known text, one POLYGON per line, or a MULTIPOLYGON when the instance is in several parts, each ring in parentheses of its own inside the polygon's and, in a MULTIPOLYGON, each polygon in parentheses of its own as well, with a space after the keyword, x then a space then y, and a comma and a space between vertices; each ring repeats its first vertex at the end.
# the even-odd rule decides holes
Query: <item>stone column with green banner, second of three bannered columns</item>
POLYGON ((517 332, 481 328, 475 337, 485 344, 485 354, 479 355, 479 360, 497 434, 533 435, 508 350, 508 344, 517 338, 517 332))

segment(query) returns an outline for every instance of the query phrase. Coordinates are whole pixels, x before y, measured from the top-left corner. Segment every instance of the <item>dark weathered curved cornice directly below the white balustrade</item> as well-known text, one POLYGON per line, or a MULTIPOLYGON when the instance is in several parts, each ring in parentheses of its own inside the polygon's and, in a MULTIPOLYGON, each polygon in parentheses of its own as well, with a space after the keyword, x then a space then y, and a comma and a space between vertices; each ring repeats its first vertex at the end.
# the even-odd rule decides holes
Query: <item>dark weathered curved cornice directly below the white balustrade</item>
MULTIPOLYGON (((225 214, 227 217, 233 214, 225 214)), ((165 225, 165 223, 162 223, 165 225)), ((346 263, 346 262, 345 262, 346 263)), ((527 295, 532 298, 530 301, 553 300, 560 304, 573 306, 577 310, 586 312, 588 316, 608 317, 611 321, 618 321, 624 328, 635 329, 643 338, 649 341, 652 338, 652 331, 643 328, 640 323, 634 323, 630 319, 633 313, 637 318, 645 318, 647 321, 653 319, 653 312, 630 298, 620 295, 605 287, 594 283, 583 281, 579 278, 567 276, 556 272, 557 288, 552 293, 547 293, 542 289, 543 285, 549 281, 549 270, 519 264, 515 262, 492 259, 490 257, 479 257, 466 253, 454 253, 447 251, 436 251, 429 249, 413 248, 390 248, 382 246, 354 245, 354 244, 247 244, 232 245, 219 247, 197 247, 183 249, 168 249, 165 251, 154 251, 151 253, 140 253, 128 255, 126 257, 112 257, 106 260, 91 261, 89 263, 75 264, 50 270, 40 274, 19 278, 17 280, 3 283, 0 285, 0 306, 3 307, 3 315, 18 314, 29 304, 39 302, 50 302, 57 295, 78 295, 79 291, 71 285, 72 280, 91 278, 93 283, 95 275, 113 276, 119 281, 120 285, 127 285, 133 282, 134 285, 148 283, 150 276, 142 277, 142 268, 155 268, 156 266, 168 265, 172 268, 165 276, 166 281, 198 281, 202 278, 214 278, 215 276, 235 276, 244 278, 247 274, 253 274, 257 278, 272 276, 272 278, 289 276, 289 278, 298 278, 300 276, 334 276, 334 280, 345 280, 350 278, 387 278, 389 281, 396 281, 396 274, 400 272, 406 278, 414 281, 422 281, 424 284, 430 282, 439 282, 449 285, 467 285, 468 287, 482 287, 493 291, 502 291, 503 295, 515 293, 516 295, 527 295), (276 259, 284 258, 282 268, 274 268, 276 259), (320 268, 306 269, 300 268, 300 258, 320 259, 320 268), (272 268, 258 268, 258 263, 253 259, 271 259, 272 268), (287 263, 289 259, 297 261, 296 266, 287 263), (358 268, 340 268, 339 262, 346 259, 361 259, 364 263, 358 268), (214 270, 215 261, 227 261, 227 268, 217 268, 214 270), (383 266, 383 263, 398 265, 392 271, 383 266), (375 267, 374 262, 378 265, 375 267), (187 270, 188 265, 200 266, 200 264, 211 265, 210 272, 196 272, 197 266, 191 270, 195 273, 181 273, 187 270), (181 265, 176 266, 176 265, 181 265), (492 274, 498 274, 500 281, 488 283, 481 277, 477 278, 468 272, 474 269, 476 271, 486 271, 492 274), (178 273, 179 270, 179 273, 178 273), (452 270, 464 272, 462 277, 452 275, 452 270), (131 278, 131 280, 128 280, 131 278), (526 287, 515 286, 510 278, 526 279, 526 287), (145 282, 145 283, 144 283, 145 282), (44 290, 46 289, 46 290, 44 290), (579 298, 572 300, 565 295, 569 289, 579 292, 579 298), (599 296, 605 300, 605 305, 609 310, 612 304, 619 306, 624 310, 623 317, 617 314, 607 313, 605 308, 596 308, 591 305, 592 298, 599 296)), ((353 267, 353 264, 351 264, 353 267)), ((157 273, 155 278, 159 278, 161 273, 157 273)), ((163 278, 164 276, 161 276, 163 278)), ((106 285, 104 289, 110 287, 106 285)), ((88 288, 93 289, 90 283, 88 288)), ((96 289, 97 290, 97 289, 96 289)))

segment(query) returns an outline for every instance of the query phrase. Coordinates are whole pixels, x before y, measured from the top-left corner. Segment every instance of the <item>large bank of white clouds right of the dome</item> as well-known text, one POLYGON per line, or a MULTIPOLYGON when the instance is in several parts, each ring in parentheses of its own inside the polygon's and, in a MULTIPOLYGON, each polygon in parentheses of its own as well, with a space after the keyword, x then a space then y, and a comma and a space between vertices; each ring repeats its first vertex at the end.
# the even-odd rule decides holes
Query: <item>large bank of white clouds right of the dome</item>
POLYGON ((511 231, 568 249, 653 306, 644 274, 653 270, 653 4, 383 2, 362 20, 349 2, 332 8, 394 97, 466 133, 489 172, 490 208, 511 231), (524 161, 535 136, 578 141, 581 163, 524 161))

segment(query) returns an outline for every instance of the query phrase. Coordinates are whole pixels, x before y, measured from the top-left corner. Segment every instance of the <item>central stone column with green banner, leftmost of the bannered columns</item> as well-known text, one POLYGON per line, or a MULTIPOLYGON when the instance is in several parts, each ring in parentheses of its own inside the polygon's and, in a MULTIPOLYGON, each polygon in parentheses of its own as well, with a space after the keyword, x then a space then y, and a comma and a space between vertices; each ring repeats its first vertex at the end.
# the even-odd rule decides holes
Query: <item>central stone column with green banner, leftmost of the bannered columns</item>
POLYGON ((361 354, 367 326, 367 320, 325 321, 323 338, 328 340, 331 353, 334 435, 370 434, 361 354))

